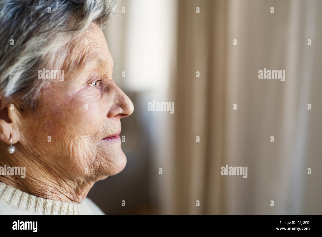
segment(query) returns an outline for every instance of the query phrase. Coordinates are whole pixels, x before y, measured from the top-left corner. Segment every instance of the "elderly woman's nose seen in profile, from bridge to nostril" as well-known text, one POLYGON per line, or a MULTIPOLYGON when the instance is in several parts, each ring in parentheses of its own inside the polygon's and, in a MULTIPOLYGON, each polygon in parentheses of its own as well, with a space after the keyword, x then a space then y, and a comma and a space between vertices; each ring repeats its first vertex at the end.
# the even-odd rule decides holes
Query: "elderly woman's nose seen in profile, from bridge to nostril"
POLYGON ((115 104, 113 104, 107 114, 108 118, 124 118, 132 114, 134 105, 130 98, 116 85, 115 85, 115 104))

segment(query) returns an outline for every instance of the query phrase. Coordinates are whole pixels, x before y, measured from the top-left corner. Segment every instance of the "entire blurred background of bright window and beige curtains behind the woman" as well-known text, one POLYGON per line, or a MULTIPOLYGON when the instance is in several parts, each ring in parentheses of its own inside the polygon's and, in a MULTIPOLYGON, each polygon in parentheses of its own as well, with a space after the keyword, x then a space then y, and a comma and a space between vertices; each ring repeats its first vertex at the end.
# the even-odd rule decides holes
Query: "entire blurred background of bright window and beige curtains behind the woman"
POLYGON ((321 12, 314 0, 120 0, 104 34, 135 108, 121 120, 127 165, 88 197, 106 214, 322 214, 321 12), (285 81, 259 79, 264 68, 285 81), (153 100, 174 114, 148 111, 153 100), (248 177, 222 176, 226 164, 248 177))

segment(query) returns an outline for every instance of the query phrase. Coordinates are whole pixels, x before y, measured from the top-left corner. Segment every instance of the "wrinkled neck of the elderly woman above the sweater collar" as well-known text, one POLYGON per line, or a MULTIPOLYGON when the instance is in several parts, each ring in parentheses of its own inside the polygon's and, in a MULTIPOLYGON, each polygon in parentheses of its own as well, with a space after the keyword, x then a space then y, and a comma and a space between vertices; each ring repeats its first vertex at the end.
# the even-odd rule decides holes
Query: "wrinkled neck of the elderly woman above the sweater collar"
POLYGON ((0 174, 0 182, 13 186, 25 193, 71 203, 80 203, 95 183, 82 178, 72 180, 62 172, 54 172, 48 165, 41 163, 40 160, 23 159, 21 157, 14 159, 14 156, 10 157, 10 162, 8 159, 1 158, 0 174), (5 165, 7 170, 4 170, 5 165), (12 167, 26 167, 26 172, 24 175, 22 173, 14 175, 15 169, 12 169, 12 167), (9 172, 11 169, 12 171, 9 172), (5 172, 6 175, 2 172, 5 172), (22 178, 23 176, 25 177, 22 178))

